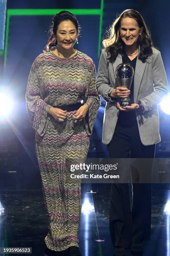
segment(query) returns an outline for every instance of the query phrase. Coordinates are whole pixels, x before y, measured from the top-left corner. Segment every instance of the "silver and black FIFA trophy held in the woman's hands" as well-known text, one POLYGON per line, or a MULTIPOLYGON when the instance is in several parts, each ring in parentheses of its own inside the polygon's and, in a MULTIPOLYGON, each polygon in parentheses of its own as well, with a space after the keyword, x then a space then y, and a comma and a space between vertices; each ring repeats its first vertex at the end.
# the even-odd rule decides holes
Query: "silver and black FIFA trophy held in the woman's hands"
MULTIPOLYGON (((121 63, 116 68, 117 87, 126 87, 130 90, 134 76, 134 69, 128 63, 121 63)), ((121 108, 130 106, 130 98, 121 98, 121 108)))

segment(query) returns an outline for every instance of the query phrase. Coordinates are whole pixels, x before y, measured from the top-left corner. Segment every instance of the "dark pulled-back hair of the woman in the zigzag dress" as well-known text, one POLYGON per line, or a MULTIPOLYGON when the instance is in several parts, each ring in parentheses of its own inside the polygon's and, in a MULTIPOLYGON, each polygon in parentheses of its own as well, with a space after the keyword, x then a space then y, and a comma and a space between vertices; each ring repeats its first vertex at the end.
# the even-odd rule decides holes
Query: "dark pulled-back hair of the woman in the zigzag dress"
POLYGON ((48 31, 49 38, 48 38, 47 45, 45 46, 45 51, 50 51, 50 49, 52 47, 57 46, 57 40, 55 38, 56 33, 57 33, 57 28, 58 28, 58 25, 64 20, 72 21, 72 23, 74 23, 74 25, 76 27, 77 35, 80 34, 80 25, 79 25, 77 18, 74 14, 72 14, 68 11, 65 11, 65 10, 61 11, 60 13, 56 13, 54 15, 54 17, 52 18, 52 23, 51 23, 51 26, 48 31))

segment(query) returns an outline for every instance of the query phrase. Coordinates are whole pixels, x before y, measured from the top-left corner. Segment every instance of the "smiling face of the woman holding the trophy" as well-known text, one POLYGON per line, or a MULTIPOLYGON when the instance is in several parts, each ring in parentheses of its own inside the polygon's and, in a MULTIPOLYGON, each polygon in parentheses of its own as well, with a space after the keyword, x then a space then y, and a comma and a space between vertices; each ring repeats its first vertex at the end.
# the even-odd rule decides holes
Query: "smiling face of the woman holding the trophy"
POLYGON ((123 18, 121 20, 120 35, 126 46, 134 46, 137 44, 139 35, 143 29, 139 28, 138 22, 133 18, 123 18))

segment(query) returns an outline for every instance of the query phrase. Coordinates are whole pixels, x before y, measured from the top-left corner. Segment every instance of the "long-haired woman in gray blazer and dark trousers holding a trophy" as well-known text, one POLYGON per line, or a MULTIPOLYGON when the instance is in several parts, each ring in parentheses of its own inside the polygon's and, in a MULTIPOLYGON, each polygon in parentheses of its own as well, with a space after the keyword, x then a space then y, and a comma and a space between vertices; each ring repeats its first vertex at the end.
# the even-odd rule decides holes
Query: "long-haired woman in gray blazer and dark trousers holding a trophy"
MULTIPOLYGON (((115 20, 103 44, 97 78, 98 93, 107 102, 102 142, 110 158, 154 159, 155 143, 160 141, 158 104, 168 92, 160 51, 153 47, 144 19, 132 9, 115 20), (135 71, 130 90, 116 87, 115 69, 122 62, 135 71), (120 99, 128 96, 131 105, 121 108, 120 99)), ((116 256, 125 255, 126 248, 132 249, 132 255, 143 255, 143 241, 150 239, 151 184, 147 182, 152 166, 153 160, 140 173, 145 183, 133 183, 132 210, 128 183, 112 184, 110 235, 116 256)), ((138 178, 132 175, 133 182, 138 178)))

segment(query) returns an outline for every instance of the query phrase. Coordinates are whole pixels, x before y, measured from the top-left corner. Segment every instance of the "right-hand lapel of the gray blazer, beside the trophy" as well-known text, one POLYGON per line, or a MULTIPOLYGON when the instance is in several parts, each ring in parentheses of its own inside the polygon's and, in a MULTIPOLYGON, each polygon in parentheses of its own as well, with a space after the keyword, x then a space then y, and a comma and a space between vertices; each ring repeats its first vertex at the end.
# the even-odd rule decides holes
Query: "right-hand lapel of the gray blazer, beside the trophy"
POLYGON ((145 71, 146 62, 143 63, 140 59, 136 60, 135 75, 134 75, 134 102, 138 100, 138 93, 145 71))

